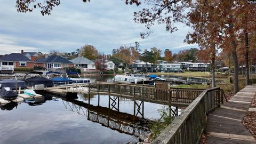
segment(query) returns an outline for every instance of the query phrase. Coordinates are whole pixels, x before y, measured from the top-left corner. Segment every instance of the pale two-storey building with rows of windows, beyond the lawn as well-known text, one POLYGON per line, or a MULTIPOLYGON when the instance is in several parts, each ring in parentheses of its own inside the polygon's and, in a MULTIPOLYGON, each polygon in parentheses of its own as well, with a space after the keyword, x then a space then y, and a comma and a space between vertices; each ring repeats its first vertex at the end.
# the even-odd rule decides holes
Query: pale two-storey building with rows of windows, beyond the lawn
POLYGON ((182 65, 180 63, 159 63, 161 72, 182 72, 182 65))

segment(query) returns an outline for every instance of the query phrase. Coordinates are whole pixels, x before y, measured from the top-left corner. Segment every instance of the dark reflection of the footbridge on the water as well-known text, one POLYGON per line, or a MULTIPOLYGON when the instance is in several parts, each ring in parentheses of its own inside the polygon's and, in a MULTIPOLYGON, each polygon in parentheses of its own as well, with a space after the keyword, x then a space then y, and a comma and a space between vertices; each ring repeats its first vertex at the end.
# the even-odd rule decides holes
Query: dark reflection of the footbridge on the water
POLYGON ((79 115, 84 115, 88 120, 99 123, 121 133, 129 135, 146 135, 148 127, 135 124, 140 121, 138 117, 111 110, 109 108, 93 106, 82 101, 71 100, 63 101, 66 109, 76 112, 79 115))

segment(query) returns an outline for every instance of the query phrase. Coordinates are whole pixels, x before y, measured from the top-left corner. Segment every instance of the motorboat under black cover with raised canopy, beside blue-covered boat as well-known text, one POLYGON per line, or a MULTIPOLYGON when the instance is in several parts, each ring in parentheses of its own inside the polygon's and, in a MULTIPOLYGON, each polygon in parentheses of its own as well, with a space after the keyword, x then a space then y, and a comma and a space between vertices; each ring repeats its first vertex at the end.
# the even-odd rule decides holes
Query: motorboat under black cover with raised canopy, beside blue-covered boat
POLYGON ((43 75, 43 72, 41 72, 41 71, 32 71, 30 73, 27 73, 24 76, 23 81, 25 81, 28 86, 35 86, 38 84, 43 84, 45 87, 52 87, 53 86, 52 80, 45 78, 42 75, 43 75), (29 77, 26 79, 26 77, 31 74, 36 74, 38 76, 33 76, 33 77, 29 77))

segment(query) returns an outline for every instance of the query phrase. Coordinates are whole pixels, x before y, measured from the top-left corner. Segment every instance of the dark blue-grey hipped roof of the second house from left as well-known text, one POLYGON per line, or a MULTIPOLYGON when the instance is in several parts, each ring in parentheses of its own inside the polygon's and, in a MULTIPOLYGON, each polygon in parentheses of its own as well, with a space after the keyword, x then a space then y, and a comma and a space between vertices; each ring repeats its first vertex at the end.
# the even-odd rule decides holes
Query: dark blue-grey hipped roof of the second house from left
POLYGON ((38 59, 36 63, 48 63, 48 62, 57 62, 57 63, 73 63, 65 58, 60 57, 59 55, 51 55, 48 58, 38 59))

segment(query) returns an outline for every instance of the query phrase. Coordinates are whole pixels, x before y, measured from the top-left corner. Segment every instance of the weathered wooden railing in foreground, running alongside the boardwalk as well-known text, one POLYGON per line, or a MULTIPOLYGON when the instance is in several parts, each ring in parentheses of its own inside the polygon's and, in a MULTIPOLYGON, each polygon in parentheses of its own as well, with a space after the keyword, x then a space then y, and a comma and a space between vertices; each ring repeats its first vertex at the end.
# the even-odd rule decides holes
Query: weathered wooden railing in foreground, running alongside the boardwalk
POLYGON ((220 88, 204 90, 152 143, 199 143, 206 127, 206 114, 220 107, 220 88))

